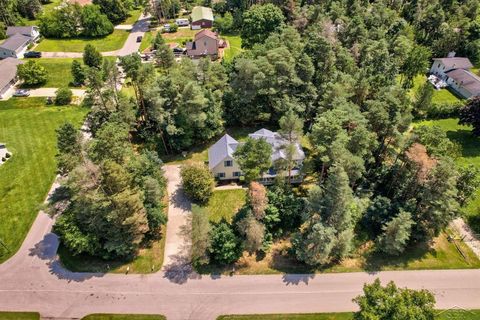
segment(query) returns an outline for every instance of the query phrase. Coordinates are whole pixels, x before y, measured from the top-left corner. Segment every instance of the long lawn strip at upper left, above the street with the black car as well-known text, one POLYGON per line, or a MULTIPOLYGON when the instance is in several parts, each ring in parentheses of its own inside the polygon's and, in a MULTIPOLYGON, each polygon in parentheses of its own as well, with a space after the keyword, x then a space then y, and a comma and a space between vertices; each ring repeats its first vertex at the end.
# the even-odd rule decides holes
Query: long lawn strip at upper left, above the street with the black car
POLYGON ((83 52, 87 43, 92 44, 101 52, 115 51, 123 47, 129 35, 125 30, 114 30, 103 38, 75 38, 75 39, 43 39, 35 51, 44 52, 83 52))

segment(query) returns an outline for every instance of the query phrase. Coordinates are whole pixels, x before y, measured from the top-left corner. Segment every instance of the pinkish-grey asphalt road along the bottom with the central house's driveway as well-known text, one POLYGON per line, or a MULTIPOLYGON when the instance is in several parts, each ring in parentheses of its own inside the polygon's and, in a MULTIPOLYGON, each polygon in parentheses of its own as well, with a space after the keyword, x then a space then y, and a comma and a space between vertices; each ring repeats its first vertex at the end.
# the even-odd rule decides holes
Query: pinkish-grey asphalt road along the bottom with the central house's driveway
MULTIPOLYGON (((174 196, 179 169, 168 166, 166 170, 169 188, 177 186, 171 190, 170 206, 188 215, 188 201, 181 193, 174 196)), ((182 221, 188 223, 188 219, 182 221)), ((56 260, 58 239, 51 233, 52 224, 49 216, 40 213, 18 253, 0 265, 0 310, 38 311, 53 318, 113 312, 199 320, 220 314, 351 311, 356 308, 352 298, 361 293, 365 282, 377 277, 432 290, 438 308, 480 308, 480 270, 230 277, 199 276, 188 268, 166 267, 152 275, 72 273, 56 260)), ((180 223, 170 228, 167 244, 168 232, 175 234, 184 227, 180 223)), ((167 250, 166 255, 174 251, 167 250)), ((172 265, 176 260, 166 261, 172 265)))

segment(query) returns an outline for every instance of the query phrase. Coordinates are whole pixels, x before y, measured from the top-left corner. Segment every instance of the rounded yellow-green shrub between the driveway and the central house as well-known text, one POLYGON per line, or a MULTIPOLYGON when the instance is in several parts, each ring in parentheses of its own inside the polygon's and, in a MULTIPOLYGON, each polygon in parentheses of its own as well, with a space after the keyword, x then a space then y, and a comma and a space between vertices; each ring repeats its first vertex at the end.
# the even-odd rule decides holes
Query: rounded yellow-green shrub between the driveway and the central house
POLYGON ((183 189, 193 201, 206 203, 213 193, 215 181, 203 164, 192 163, 182 167, 180 172, 183 189))

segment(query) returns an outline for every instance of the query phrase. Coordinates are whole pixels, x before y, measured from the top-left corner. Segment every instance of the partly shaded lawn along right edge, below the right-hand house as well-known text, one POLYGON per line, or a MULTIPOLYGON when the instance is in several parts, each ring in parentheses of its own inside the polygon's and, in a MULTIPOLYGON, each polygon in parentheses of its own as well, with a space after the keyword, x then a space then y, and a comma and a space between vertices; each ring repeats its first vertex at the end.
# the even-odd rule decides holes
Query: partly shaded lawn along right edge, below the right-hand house
MULTIPOLYGON (((472 135, 470 127, 459 125, 458 119, 422 121, 415 125, 435 125, 442 128, 447 137, 461 147, 461 156, 455 159, 455 162, 461 166, 471 164, 480 168, 480 138, 472 135)), ((469 225, 476 233, 480 234, 480 190, 474 195, 464 212, 469 225)))

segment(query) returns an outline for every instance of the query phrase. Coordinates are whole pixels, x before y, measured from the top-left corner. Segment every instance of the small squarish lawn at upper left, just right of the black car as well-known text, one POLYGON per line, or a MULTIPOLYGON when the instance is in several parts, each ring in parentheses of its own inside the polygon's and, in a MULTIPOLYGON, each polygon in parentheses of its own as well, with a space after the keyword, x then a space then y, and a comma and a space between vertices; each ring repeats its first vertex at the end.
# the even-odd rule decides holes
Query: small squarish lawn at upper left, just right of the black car
MULTIPOLYGON (((71 67, 74 59, 69 58, 55 58, 55 59, 35 59, 40 65, 47 70, 47 82, 42 84, 44 88, 60 88, 60 87, 73 87, 71 82, 73 81, 71 67)), ((82 59, 76 59, 82 64, 82 59)))

